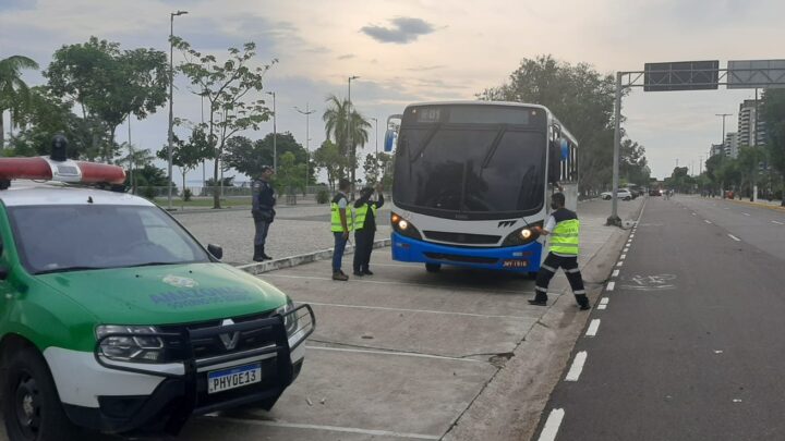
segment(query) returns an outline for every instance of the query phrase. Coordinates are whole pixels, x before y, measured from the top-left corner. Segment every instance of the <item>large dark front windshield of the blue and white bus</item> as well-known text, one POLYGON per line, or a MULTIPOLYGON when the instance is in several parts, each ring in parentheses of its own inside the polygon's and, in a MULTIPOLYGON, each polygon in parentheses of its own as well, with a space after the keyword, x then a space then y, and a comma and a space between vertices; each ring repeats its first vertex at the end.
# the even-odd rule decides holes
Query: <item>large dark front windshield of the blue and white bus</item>
POLYGON ((542 208, 542 131, 510 124, 412 124, 401 127, 396 205, 457 219, 526 216, 542 208))

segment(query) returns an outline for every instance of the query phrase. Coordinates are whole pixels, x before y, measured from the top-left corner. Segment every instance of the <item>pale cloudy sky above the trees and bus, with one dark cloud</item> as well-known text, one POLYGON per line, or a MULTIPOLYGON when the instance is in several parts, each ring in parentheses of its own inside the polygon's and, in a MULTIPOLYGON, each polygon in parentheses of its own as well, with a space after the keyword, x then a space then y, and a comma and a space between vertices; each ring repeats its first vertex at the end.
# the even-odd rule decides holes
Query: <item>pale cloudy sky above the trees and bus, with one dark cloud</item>
MULTIPOLYGON (((46 66, 60 46, 92 35, 123 49, 168 52, 169 13, 177 10, 189 14, 176 17, 174 34, 197 50, 221 54, 255 41, 259 64, 279 60, 265 86, 277 93, 278 131, 304 144, 305 117, 294 107, 309 103, 316 110, 311 149, 325 139, 325 97, 346 96, 351 75, 360 76, 352 82, 354 106, 385 121, 413 101, 473 99, 539 54, 588 62, 603 73, 642 70, 645 62, 720 60, 724 66, 785 58, 782 0, 0 0, 0 58, 24 54, 46 66)), ((43 82, 34 72, 25 78, 43 82)), ((201 101, 182 78, 176 85, 176 115, 198 121, 201 101)), ((654 176, 669 175, 677 160, 697 173, 700 157, 721 138, 715 114, 734 113, 727 120, 734 131, 739 102, 753 96, 636 89, 625 99, 626 128, 645 146, 654 176)), ((167 114, 161 109, 132 121, 133 143, 159 149, 167 114)), ((270 122, 247 135, 271 131, 270 122)), ((383 132, 379 126, 379 138, 383 132)), ((365 151, 374 148, 372 131, 365 151)))

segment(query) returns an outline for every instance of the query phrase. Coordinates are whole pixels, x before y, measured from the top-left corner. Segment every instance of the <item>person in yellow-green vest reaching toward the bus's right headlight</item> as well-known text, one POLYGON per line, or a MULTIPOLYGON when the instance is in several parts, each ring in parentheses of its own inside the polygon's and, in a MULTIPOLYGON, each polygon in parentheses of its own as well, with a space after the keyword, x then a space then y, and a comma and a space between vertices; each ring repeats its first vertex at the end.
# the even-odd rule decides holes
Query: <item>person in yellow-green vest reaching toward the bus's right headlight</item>
POLYGON ((534 230, 551 236, 551 249, 545 261, 540 266, 535 283, 535 295, 529 301, 531 305, 547 305, 547 286, 556 271, 561 267, 567 274, 567 280, 576 296, 581 310, 591 309, 589 297, 583 287, 583 277, 578 269, 578 250, 580 221, 575 211, 565 208, 565 196, 563 193, 554 193, 551 196, 551 208, 554 211, 545 223, 545 228, 535 226, 534 230))

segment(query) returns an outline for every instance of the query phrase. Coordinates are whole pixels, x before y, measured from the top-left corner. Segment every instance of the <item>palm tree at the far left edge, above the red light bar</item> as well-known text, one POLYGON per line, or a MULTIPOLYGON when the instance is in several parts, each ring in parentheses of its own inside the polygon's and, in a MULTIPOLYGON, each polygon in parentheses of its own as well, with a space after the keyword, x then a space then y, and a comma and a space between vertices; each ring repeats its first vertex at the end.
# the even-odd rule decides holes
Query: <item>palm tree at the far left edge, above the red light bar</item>
POLYGON ((19 114, 29 103, 29 89, 22 81, 23 69, 38 69, 38 63, 27 57, 12 56, 0 60, 0 149, 5 145, 5 127, 2 115, 11 111, 11 127, 19 114))

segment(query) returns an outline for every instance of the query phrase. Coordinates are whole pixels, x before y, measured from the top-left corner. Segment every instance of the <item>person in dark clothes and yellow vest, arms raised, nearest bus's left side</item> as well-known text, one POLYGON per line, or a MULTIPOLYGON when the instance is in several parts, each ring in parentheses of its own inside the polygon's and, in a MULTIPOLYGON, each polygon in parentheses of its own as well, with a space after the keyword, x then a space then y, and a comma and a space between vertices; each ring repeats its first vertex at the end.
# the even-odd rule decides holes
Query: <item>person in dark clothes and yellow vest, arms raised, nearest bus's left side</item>
POLYGON ((376 185, 378 198, 372 200, 374 188, 365 187, 354 201, 354 275, 373 275, 371 272, 371 252, 376 233, 376 210, 384 205, 382 184, 376 185))

